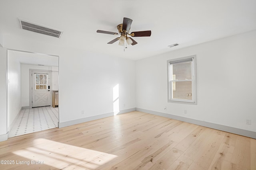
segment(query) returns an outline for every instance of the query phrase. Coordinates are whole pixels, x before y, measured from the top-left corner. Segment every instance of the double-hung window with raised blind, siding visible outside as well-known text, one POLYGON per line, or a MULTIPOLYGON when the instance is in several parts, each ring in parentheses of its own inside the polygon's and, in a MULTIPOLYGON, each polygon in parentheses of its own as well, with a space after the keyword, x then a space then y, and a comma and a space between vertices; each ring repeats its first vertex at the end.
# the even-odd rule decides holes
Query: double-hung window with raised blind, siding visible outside
POLYGON ((196 56, 167 63, 168 102, 196 104, 196 56))

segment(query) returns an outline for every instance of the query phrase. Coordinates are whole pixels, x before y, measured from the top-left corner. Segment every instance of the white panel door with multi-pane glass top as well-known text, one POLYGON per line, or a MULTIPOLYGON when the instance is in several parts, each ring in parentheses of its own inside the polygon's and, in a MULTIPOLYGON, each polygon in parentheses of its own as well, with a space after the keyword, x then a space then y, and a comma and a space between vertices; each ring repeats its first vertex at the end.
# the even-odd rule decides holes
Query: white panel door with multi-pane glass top
POLYGON ((32 71, 32 107, 50 106, 50 72, 32 71))

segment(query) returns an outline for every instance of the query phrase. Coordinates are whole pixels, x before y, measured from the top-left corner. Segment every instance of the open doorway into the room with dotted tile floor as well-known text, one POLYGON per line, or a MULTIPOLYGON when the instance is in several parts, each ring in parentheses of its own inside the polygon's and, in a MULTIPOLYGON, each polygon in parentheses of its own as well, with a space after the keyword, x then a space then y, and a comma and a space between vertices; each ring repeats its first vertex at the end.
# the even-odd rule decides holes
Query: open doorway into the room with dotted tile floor
MULTIPOLYGON (((29 129, 26 130, 27 133, 33 133, 58 127, 59 108, 51 106, 51 92, 58 90, 58 63, 59 57, 56 55, 8 49, 9 134, 12 128, 25 127, 29 129), (34 70, 33 74, 31 72, 33 76, 30 70, 34 70), (54 81, 52 81, 52 75, 55 76, 54 81), (34 92, 31 92, 32 87, 34 87, 34 92), (34 97, 30 93, 33 93, 34 97), (33 98, 34 105, 30 106, 30 98, 33 98), (24 122, 24 119, 28 122, 24 122), (29 127, 27 123, 33 124, 29 127)), ((15 134, 13 136, 17 136, 17 133, 15 134)), ((9 135, 9 137, 13 136, 9 135)))

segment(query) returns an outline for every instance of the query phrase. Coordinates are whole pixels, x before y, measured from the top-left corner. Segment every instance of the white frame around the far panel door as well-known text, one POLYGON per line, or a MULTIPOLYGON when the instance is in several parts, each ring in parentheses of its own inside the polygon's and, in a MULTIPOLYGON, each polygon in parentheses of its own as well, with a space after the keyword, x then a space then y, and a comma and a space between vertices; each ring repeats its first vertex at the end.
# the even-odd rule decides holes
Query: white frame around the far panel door
MULTIPOLYGON (((52 93, 51 93, 51 89, 52 89, 52 70, 39 70, 39 69, 32 69, 30 68, 29 69, 29 108, 31 109, 32 108, 32 71, 42 71, 42 72, 50 72, 50 101, 52 101, 52 93)), ((50 102, 50 106, 52 106, 52 102, 50 102)))

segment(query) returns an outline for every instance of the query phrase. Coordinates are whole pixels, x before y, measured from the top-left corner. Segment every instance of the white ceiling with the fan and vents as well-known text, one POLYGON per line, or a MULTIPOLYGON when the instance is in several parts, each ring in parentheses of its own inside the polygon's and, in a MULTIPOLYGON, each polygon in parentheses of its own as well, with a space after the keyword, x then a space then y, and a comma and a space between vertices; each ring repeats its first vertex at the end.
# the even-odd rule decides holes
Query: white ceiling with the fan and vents
POLYGON ((0 0, 4 35, 138 60, 256 29, 256 0, 0 0), (137 45, 107 44, 123 18, 133 20, 137 45), (60 39, 20 29, 18 18, 64 31, 60 39), (177 47, 168 45, 179 43, 177 47))

